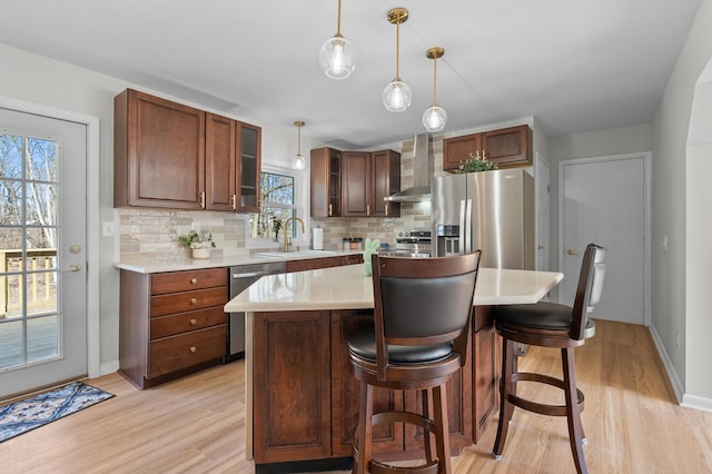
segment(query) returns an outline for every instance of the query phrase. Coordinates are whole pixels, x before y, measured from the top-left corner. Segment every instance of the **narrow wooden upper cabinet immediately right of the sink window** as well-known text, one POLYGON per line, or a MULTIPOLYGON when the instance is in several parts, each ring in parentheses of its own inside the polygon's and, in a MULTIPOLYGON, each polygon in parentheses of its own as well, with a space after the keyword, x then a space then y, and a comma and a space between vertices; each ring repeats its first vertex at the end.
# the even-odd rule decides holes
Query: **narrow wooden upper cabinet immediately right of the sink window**
POLYGON ((318 148, 310 152, 312 217, 342 216, 342 152, 318 148))

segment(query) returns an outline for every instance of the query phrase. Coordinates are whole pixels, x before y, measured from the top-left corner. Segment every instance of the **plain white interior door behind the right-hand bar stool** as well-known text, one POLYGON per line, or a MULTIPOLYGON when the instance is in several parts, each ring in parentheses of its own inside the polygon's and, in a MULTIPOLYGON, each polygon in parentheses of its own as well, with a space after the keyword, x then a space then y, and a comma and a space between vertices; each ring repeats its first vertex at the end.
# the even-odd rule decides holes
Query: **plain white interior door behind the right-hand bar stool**
POLYGON ((560 164, 560 300, 572 304, 589 243, 609 249, 603 298, 593 316, 647 324, 646 155, 560 164))

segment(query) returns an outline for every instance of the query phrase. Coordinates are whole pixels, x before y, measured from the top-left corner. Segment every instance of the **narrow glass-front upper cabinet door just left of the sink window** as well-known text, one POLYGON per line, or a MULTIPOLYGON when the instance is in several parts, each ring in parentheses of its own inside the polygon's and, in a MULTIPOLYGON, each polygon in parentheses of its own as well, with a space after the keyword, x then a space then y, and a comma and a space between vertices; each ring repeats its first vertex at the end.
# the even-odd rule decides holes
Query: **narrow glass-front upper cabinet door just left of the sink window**
POLYGON ((259 213, 259 172, 261 167, 261 128, 237 122, 237 198, 243 213, 259 213))

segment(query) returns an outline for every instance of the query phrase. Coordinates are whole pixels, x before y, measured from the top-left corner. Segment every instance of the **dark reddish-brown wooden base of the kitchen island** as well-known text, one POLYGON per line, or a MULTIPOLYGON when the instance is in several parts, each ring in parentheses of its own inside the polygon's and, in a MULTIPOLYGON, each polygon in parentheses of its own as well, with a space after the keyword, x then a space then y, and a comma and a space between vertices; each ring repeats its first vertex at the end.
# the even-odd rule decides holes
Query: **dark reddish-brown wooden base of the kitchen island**
MULTIPOLYGON (((473 356, 447 385, 453 455, 478 441, 496 413, 495 333, 488 308, 478 307, 476 314, 473 356)), ((373 309, 255 314, 257 464, 352 456, 359 385, 348 368, 346 338, 368 324, 373 309)), ((419 412, 419 394, 376 388, 374 397, 375 411, 406 406, 419 412)), ((413 426, 374 426, 373 450, 384 458, 415 458, 422 444, 423 433, 413 426)))

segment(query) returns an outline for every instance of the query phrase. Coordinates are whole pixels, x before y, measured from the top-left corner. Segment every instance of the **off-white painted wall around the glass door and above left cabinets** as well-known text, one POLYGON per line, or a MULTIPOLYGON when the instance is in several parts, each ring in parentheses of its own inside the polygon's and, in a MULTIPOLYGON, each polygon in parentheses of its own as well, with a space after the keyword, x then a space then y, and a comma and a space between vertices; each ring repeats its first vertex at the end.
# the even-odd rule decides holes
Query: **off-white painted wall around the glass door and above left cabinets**
MULTIPOLYGON (((171 97, 142 88, 140 85, 128 83, 2 43, 0 43, 0 63, 3 65, 3 71, 0 75, 0 97, 99 118, 99 176, 89 177, 89 179, 99 180, 98 220, 113 220, 113 97, 127 87, 168 99, 171 97)), ((200 103, 182 102, 221 113, 200 103)), ((236 116, 233 118, 240 119, 236 116)), ((289 157, 296 152, 297 146, 297 130, 291 122, 300 118, 289 119, 290 121, 287 121, 284 127, 255 124, 263 127, 265 161, 275 160, 278 165, 289 166, 289 157)), ((307 127, 303 130, 301 146, 304 154, 304 150, 308 150, 309 147, 307 127)), ((308 176, 308 171, 305 176, 308 176)), ((88 229, 88 233, 99 241, 100 247, 99 261, 89 261, 89 265, 99 266, 101 326, 99 363, 101 372, 108 373, 118 368, 119 274, 113 268, 113 239, 100 237, 100 226, 88 229)))

